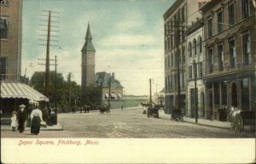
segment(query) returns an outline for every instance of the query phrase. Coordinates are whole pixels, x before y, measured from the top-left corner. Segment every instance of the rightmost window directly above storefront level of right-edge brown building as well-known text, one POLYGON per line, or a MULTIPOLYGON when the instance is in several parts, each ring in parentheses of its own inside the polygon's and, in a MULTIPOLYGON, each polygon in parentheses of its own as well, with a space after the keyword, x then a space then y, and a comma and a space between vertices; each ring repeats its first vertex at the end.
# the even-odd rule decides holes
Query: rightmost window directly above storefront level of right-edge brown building
POLYGON ((251 58, 251 46, 249 34, 242 36, 242 52, 243 52, 243 64, 249 65, 251 58))

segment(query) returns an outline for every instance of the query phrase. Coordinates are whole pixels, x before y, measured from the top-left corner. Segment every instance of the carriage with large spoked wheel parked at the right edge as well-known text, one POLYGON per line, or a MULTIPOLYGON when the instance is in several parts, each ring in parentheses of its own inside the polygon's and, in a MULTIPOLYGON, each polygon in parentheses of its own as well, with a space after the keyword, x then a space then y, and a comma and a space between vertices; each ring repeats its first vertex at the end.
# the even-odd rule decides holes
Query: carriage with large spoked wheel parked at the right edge
POLYGON ((237 108, 230 108, 230 128, 236 133, 240 133, 244 130, 245 126, 249 126, 252 130, 255 130, 256 120, 255 110, 238 110, 237 108))

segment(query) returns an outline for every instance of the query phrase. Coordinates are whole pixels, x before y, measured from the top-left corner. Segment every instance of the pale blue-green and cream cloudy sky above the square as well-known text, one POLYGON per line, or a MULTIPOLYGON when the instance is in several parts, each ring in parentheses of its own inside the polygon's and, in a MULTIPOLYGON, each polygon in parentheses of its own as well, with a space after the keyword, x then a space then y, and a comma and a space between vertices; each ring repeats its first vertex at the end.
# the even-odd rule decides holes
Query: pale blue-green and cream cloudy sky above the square
MULTIPOLYGON (((23 0, 22 74, 45 71, 48 13, 53 32, 49 58, 57 56, 57 71, 81 84, 81 49, 88 23, 96 48, 96 72, 114 72, 125 94, 149 95, 164 88, 163 14, 174 0, 23 0), (55 32, 59 31, 59 32, 55 32), (42 41, 43 39, 43 41, 42 41)), ((54 61, 51 61, 54 64, 54 61)), ((55 71, 55 66, 50 66, 55 71)))

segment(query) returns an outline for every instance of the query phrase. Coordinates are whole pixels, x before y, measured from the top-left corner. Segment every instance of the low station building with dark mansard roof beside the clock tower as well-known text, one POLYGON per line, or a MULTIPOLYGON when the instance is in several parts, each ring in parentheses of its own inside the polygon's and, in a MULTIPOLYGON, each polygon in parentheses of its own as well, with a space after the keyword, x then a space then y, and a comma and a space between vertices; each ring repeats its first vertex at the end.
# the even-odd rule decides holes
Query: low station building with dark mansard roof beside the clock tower
POLYGON ((109 100, 123 99, 124 87, 115 79, 114 73, 112 75, 105 71, 96 73, 96 88, 101 88, 102 101, 108 101, 108 98, 109 100))

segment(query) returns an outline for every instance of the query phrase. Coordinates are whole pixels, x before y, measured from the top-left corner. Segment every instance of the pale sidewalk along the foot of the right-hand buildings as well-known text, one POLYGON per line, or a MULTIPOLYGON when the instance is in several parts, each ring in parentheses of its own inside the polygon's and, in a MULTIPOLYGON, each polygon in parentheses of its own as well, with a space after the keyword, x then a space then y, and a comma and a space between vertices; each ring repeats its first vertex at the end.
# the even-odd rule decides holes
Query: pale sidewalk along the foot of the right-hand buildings
MULTIPOLYGON (((165 118, 165 119, 171 120, 171 115, 165 114, 165 112, 163 110, 160 110, 160 118, 165 118)), ((175 121, 173 120, 173 122, 175 122, 175 121)), ((197 123, 195 123, 195 118, 183 116, 183 122, 194 123, 197 125, 208 126, 208 127, 219 127, 219 128, 230 129, 230 122, 219 122, 217 120, 211 121, 211 120, 207 120, 205 118, 198 118, 197 123)))

